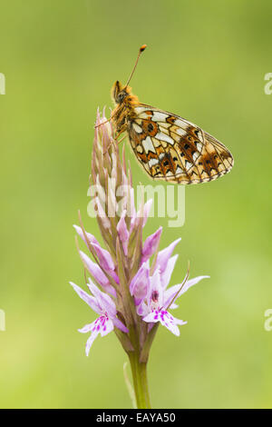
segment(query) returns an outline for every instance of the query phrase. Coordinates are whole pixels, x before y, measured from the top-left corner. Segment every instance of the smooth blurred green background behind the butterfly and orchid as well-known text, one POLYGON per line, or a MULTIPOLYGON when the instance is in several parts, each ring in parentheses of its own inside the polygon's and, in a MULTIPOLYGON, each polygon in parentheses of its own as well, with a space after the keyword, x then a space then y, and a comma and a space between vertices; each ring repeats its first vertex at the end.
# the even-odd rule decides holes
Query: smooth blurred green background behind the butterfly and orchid
MULTIPOLYGON (((161 224, 161 247, 178 236, 191 276, 210 274, 180 299, 180 338, 160 328, 151 350, 154 408, 272 407, 271 108, 272 4, 263 1, 13 0, 0 3, 1 286, 0 406, 130 408, 112 333, 89 358, 77 328, 94 313, 75 249, 86 208, 93 123, 110 89, 131 73, 141 102, 180 114, 225 143, 233 171, 186 188, 186 223, 161 224)), ((109 110, 108 110, 109 112, 109 110)), ((109 113, 108 113, 109 114, 109 113)), ((131 154, 134 183, 151 184, 131 154)))

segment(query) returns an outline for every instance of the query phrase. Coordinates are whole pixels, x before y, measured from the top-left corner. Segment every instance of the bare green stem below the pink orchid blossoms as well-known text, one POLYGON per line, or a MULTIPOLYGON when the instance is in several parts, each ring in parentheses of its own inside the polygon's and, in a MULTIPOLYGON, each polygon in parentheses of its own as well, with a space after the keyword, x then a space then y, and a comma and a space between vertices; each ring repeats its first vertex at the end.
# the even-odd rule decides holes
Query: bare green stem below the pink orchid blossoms
POLYGON ((147 362, 140 362, 140 353, 128 353, 131 362, 134 392, 138 409, 151 409, 151 400, 147 381, 147 362))

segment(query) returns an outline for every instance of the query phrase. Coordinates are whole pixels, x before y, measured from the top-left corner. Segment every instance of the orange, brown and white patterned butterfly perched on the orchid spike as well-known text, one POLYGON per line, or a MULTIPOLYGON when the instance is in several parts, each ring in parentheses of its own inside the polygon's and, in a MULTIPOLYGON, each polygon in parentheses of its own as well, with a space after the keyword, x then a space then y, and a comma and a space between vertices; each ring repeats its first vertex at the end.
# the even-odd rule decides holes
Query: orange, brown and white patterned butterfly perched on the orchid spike
MULTIPOLYGON (((131 76, 145 48, 141 46, 131 76)), ((133 152, 151 178, 199 184, 230 171, 233 157, 225 145, 177 114, 141 104, 131 94, 131 76, 124 86, 118 81, 113 84, 116 107, 111 120, 118 136, 129 134, 133 152)))

